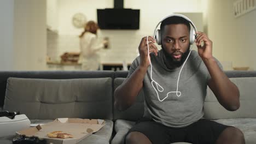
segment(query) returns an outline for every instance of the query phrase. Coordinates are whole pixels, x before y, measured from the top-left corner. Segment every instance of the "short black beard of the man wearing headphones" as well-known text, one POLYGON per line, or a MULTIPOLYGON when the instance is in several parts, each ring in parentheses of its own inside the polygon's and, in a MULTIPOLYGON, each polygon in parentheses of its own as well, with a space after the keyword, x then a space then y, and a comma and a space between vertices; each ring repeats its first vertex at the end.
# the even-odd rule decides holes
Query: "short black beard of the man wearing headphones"
POLYGON ((184 52, 184 53, 181 52, 181 51, 174 51, 173 53, 178 52, 178 53, 181 53, 181 55, 182 55, 181 61, 174 61, 174 59, 172 57, 172 54, 167 53, 165 51, 165 49, 162 48, 162 52, 165 55, 165 60, 169 64, 171 64, 173 66, 173 68, 181 67, 181 65, 185 62, 186 58, 188 57, 189 51, 190 51, 190 45, 188 47, 188 50, 186 52, 184 52))

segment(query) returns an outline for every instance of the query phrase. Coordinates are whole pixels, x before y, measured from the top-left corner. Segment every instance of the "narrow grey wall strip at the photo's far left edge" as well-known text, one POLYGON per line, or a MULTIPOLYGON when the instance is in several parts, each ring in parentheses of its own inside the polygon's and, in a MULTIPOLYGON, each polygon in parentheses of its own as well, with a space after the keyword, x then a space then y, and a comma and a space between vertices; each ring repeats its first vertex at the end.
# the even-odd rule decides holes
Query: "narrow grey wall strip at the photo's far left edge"
POLYGON ((0 70, 13 69, 14 1, 0 1, 0 70))

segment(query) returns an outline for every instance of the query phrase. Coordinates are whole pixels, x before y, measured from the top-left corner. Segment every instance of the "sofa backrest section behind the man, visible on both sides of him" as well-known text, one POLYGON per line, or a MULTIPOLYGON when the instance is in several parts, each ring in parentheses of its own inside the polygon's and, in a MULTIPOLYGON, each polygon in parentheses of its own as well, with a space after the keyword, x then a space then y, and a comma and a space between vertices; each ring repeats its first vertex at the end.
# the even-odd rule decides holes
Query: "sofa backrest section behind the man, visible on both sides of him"
MULTIPOLYGON (((207 95, 204 104, 205 118, 208 119, 220 119, 220 118, 244 118, 251 117, 256 118, 256 71, 225 71, 225 74, 230 78, 232 82, 236 84, 240 90, 240 109, 237 111, 225 110, 223 106, 219 104, 216 97, 210 88, 207 87, 207 95)), ((119 76, 125 76, 124 73, 115 74, 119 76)), ((127 74, 126 74, 127 75, 127 74)), ((125 79, 115 79, 114 89, 121 84, 121 81, 125 79)), ((140 93, 139 98, 136 100, 135 105, 132 105, 129 109, 123 112, 119 112, 113 107, 113 119, 127 119, 131 117, 139 118, 144 113, 143 93, 140 93)))

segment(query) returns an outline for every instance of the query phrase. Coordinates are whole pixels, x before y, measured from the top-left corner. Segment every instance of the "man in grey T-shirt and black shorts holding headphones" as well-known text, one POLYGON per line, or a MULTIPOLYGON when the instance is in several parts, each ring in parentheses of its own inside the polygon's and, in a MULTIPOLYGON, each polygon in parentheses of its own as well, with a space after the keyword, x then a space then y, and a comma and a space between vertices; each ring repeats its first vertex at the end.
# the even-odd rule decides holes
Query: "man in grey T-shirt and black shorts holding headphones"
POLYGON ((142 38, 139 56, 114 92, 119 110, 144 92, 144 117, 126 134, 125 143, 245 143, 239 129, 203 119, 207 85, 229 111, 240 107, 239 91, 212 56, 212 41, 205 33, 196 32, 198 52, 190 50, 190 23, 183 16, 161 21, 161 37, 156 39, 160 51, 153 37, 142 38))

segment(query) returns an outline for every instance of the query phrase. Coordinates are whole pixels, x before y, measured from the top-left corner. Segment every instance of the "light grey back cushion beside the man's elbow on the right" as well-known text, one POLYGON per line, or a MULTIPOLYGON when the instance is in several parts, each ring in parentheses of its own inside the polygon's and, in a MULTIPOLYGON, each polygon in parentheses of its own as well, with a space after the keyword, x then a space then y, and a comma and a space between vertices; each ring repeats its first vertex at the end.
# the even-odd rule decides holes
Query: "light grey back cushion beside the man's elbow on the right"
POLYGON ((240 108, 236 111, 228 111, 219 104, 210 88, 207 88, 204 110, 207 119, 226 118, 256 118, 256 77, 230 78, 240 91, 240 108))

